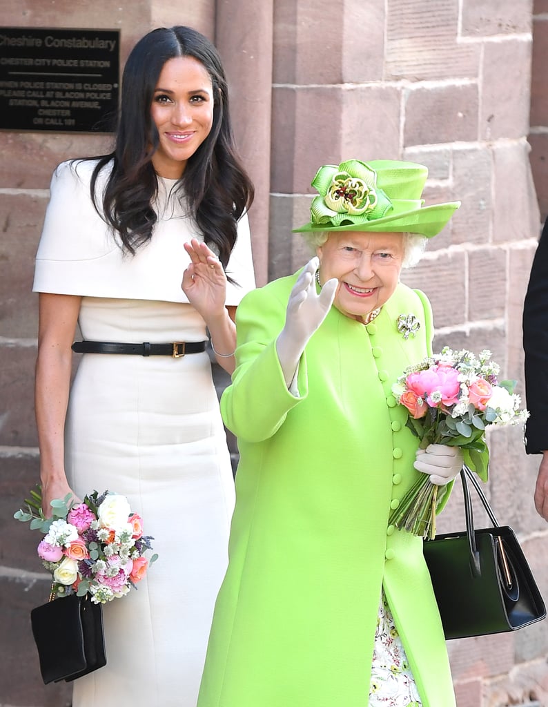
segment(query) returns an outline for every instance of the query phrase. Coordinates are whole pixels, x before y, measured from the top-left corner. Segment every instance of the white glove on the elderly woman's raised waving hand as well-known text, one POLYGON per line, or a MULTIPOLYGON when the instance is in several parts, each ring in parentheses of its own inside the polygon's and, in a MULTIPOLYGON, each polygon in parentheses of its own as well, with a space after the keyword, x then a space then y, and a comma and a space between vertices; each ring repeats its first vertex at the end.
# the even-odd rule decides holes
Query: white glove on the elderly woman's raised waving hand
POLYGON ((286 323, 276 339, 276 353, 288 387, 306 344, 325 320, 339 286, 339 281, 333 278, 325 283, 319 294, 316 292, 314 279, 319 265, 319 259, 313 257, 298 276, 289 295, 286 323))

